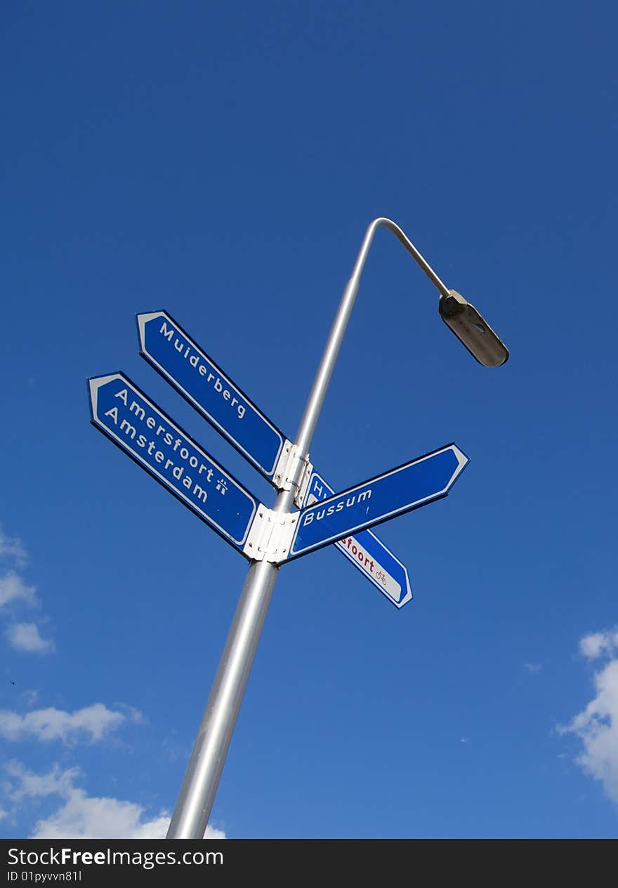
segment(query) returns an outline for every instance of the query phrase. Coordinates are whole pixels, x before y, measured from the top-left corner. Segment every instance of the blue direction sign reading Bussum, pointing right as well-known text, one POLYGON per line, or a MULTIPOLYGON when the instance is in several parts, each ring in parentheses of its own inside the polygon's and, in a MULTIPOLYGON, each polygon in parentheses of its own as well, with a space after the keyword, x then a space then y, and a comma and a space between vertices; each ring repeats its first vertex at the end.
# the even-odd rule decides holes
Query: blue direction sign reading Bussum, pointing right
POLYGON ((306 506, 299 514, 289 559, 441 499, 467 463, 468 457, 450 444, 306 506))

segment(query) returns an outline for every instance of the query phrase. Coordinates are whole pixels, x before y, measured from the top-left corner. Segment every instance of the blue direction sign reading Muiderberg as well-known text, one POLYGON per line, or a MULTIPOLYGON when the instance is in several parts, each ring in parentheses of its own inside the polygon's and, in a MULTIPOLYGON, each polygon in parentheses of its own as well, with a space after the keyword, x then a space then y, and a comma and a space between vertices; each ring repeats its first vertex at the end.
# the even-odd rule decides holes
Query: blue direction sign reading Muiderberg
POLYGON ((272 481, 286 438, 167 312, 137 314, 140 354, 272 481))

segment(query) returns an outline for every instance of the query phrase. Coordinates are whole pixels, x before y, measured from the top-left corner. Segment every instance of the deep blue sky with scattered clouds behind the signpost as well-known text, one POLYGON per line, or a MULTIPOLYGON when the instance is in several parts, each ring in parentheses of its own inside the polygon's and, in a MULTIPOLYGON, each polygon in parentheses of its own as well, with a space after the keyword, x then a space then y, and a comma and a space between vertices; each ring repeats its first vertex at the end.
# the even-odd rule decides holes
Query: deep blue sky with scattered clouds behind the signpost
POLYGON ((372 218, 511 350, 483 369, 379 231, 311 448, 338 489, 455 441, 450 496, 281 567, 209 834, 615 836, 614 4, 5 3, 0 834, 160 836, 246 560, 89 423, 166 309, 293 438, 372 218))

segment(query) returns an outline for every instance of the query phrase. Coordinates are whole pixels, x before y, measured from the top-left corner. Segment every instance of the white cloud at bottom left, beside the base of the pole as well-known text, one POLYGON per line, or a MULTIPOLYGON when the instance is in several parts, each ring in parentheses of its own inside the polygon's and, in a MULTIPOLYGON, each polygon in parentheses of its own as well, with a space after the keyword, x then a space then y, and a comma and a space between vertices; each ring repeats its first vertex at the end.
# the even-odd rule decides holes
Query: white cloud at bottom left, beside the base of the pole
MULTIPOLYGON (((19 762, 11 762, 7 771, 19 782, 12 798, 58 795, 63 799, 57 811, 36 822, 31 838, 164 838, 168 831, 166 811, 148 820, 142 805, 88 796, 84 789, 74 786, 80 775, 76 768, 61 772, 54 765, 50 773, 39 775, 19 762)), ((225 833, 208 827, 206 837, 225 838, 225 833)))

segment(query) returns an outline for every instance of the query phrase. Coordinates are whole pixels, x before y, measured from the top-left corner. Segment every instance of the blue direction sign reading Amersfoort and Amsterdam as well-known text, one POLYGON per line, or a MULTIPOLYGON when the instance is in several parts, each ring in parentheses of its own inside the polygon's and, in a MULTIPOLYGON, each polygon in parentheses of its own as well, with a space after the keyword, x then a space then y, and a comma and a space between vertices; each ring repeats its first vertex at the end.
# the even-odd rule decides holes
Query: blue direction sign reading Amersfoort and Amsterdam
POLYGON ((92 424, 242 551, 257 498, 122 373, 90 378, 88 391, 92 424))

